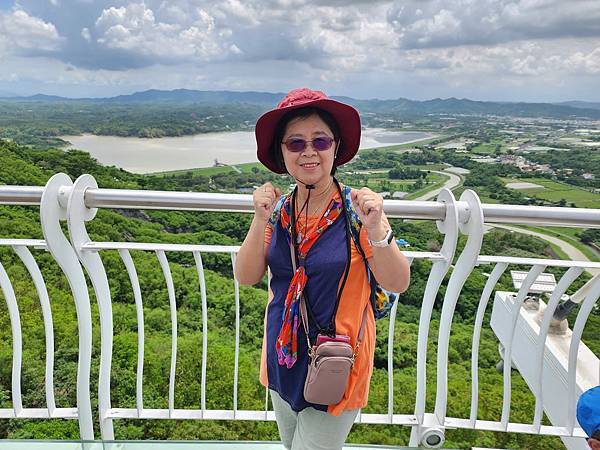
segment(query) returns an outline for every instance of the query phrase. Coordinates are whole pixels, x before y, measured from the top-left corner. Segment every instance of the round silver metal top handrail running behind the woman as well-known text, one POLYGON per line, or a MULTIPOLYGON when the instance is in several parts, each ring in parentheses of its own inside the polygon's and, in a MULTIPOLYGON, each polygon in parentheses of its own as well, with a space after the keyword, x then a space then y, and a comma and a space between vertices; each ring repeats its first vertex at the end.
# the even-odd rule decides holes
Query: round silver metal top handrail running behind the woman
MULTIPOLYGON (((59 200, 66 201, 71 187, 60 191, 59 200)), ((42 186, 0 186, 0 204, 39 205, 42 186)), ((193 211, 243 212, 254 211, 252 195, 181 191, 150 191, 141 189, 87 189, 84 195, 88 208, 170 209, 193 211)), ((465 202, 457 202, 459 222, 469 217, 465 202)), ((521 223, 535 225, 600 228, 600 209, 554 206, 481 205, 486 223, 521 223)), ((443 220, 446 205, 437 201, 384 200, 388 217, 443 220)))

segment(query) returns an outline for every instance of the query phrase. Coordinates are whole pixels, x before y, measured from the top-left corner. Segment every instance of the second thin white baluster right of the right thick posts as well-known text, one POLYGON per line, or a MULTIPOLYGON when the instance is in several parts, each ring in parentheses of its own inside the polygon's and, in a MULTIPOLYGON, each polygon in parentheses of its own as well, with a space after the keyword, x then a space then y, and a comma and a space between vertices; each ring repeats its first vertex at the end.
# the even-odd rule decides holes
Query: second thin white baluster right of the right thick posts
POLYGON ((525 301, 525 297, 527 296, 529 289, 545 268, 545 265, 538 264, 529 269, 529 272, 523 280, 521 288, 519 289, 519 292, 517 293, 517 296, 512 304, 512 323, 510 331, 508 332, 508 342, 504 349, 504 395, 502 399, 502 418, 500 419, 504 430, 506 430, 510 418, 512 345, 515 337, 515 330, 517 328, 517 321, 519 319, 521 306, 525 301))

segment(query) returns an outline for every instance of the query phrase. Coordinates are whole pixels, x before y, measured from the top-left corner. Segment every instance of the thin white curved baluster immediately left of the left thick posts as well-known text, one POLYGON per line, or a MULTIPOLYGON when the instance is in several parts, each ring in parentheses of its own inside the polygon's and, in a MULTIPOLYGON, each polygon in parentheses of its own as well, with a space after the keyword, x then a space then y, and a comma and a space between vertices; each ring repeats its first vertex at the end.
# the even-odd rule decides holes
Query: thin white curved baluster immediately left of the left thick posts
POLYGON ((44 335, 46 338, 46 405, 48 406, 48 416, 52 417, 54 410, 56 409, 56 401, 54 399, 54 328, 52 322, 52 309, 50 308, 50 298, 48 296, 48 290, 46 289, 46 283, 44 282, 42 272, 29 249, 23 245, 14 245, 12 248, 27 268, 38 293, 40 306, 42 307, 44 335))

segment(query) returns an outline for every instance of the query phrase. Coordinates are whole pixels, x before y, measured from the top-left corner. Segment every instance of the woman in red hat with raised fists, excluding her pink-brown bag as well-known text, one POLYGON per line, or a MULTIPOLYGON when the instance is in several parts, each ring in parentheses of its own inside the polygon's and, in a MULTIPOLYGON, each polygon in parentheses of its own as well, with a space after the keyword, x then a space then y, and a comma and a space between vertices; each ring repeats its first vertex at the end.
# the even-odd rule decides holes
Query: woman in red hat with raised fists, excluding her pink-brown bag
MULTIPOLYGON (((255 284, 267 266, 271 270, 260 378, 270 389, 288 449, 341 449, 367 404, 375 345, 370 285, 363 255, 348 232, 344 192, 333 177, 337 166, 356 155, 360 132, 354 108, 310 89, 291 91, 256 123, 258 159, 275 173, 287 172, 297 185, 283 205, 271 183, 256 189, 254 219, 235 275, 240 283, 255 284), (291 242, 296 243, 296 270, 291 242), (354 347, 361 326, 364 331, 343 398, 333 405, 304 398, 309 355, 300 294, 308 306, 312 343, 325 332, 349 337, 354 347)), ((362 223, 360 246, 375 278, 390 291, 405 291, 409 265, 393 239, 382 197, 362 188, 352 190, 350 198, 362 223)))

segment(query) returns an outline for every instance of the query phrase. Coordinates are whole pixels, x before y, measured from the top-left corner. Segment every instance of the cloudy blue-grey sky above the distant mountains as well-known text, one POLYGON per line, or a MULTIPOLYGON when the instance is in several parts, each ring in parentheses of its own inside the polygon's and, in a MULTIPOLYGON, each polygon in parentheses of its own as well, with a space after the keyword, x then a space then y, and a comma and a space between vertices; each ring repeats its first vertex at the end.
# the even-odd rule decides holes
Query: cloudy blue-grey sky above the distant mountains
POLYGON ((599 0, 0 0, 0 95, 600 101, 599 0))

